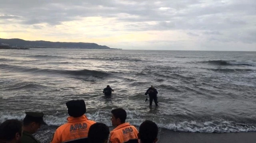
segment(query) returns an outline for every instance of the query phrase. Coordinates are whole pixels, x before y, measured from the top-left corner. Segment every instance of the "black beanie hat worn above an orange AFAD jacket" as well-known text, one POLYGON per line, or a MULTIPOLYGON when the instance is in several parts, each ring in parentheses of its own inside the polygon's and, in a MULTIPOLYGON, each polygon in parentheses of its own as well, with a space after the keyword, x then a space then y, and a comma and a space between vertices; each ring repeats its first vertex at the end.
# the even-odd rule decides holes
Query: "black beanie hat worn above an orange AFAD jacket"
POLYGON ((66 102, 68 107, 68 115, 71 117, 80 117, 86 113, 84 100, 71 100, 66 102))

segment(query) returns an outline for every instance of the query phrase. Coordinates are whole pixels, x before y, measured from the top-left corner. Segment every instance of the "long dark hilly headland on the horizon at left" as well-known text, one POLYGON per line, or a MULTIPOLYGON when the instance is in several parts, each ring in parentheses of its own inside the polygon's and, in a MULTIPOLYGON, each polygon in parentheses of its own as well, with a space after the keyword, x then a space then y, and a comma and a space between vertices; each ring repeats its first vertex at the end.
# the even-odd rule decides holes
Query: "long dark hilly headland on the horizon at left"
POLYGON ((50 42, 50 41, 26 41, 22 39, 2 39, 0 45, 22 48, 68 48, 68 49, 112 49, 95 43, 75 42, 50 42))

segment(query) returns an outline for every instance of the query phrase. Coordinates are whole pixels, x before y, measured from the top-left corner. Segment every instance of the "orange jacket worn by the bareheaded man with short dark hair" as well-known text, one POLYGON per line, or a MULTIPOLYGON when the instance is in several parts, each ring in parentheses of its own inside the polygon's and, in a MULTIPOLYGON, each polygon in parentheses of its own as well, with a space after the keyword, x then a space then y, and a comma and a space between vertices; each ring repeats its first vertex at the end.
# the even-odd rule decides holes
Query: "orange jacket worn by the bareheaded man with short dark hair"
POLYGON ((129 123, 123 123, 110 132, 110 143, 138 143, 138 130, 129 123))

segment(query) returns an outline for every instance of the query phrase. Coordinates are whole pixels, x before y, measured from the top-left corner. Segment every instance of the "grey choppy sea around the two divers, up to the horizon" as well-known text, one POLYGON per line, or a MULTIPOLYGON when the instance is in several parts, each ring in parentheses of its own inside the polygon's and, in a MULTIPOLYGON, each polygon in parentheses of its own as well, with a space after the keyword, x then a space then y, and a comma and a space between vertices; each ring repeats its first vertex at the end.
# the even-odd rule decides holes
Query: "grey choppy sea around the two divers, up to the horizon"
POLYGON ((52 139, 68 117, 66 102, 83 99, 86 116, 111 125, 126 121, 159 129, 226 133, 256 131, 256 52, 34 49, 0 51, 0 123, 44 113, 36 138, 52 139), (106 85, 112 97, 102 93, 106 85), (158 106, 145 102, 158 90, 158 106))

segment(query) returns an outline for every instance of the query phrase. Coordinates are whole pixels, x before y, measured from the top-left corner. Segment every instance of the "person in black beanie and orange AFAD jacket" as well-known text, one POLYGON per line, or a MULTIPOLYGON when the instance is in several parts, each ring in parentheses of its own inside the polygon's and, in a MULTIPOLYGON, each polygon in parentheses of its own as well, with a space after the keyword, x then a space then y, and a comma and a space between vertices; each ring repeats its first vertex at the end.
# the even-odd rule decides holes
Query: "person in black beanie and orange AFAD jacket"
POLYGON ((95 121, 89 120, 84 100, 71 100, 66 103, 68 107, 68 123, 56 129, 51 143, 88 143, 88 131, 95 121))

